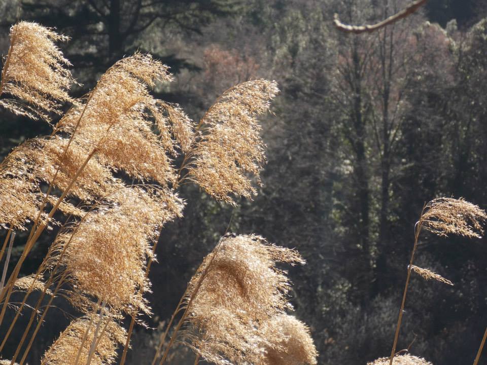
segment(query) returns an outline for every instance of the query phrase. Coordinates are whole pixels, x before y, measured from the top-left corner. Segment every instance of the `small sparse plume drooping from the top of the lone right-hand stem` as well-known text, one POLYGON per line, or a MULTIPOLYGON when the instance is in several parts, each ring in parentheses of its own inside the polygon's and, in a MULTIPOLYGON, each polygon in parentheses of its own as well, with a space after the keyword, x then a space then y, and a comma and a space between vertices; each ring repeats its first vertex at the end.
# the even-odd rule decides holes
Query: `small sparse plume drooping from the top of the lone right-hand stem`
POLYGON ((420 218, 422 227, 440 236, 457 234, 469 238, 480 238, 482 223, 487 214, 477 205, 464 199, 438 198, 426 204, 420 218))

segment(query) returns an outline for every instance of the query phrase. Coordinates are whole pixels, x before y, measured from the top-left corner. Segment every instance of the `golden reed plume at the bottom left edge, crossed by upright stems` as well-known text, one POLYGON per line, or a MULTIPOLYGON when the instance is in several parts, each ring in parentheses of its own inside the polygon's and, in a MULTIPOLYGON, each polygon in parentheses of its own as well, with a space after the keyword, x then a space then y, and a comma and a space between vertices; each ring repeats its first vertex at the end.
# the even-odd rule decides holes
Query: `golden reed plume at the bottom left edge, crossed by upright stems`
MULTIPOLYGON (((71 322, 66 330, 61 333, 59 338, 46 351, 41 364, 74 365, 80 346, 82 347, 79 363, 86 363, 95 331, 95 326, 90 326, 90 323, 90 319, 87 316, 71 322), (88 331, 88 336, 82 344, 86 331, 88 331)), ((92 365, 109 365, 114 363, 117 355, 117 346, 125 340, 125 330, 115 323, 112 318, 104 317, 101 326, 106 326, 106 330, 97 340, 96 350, 91 359, 92 365)))

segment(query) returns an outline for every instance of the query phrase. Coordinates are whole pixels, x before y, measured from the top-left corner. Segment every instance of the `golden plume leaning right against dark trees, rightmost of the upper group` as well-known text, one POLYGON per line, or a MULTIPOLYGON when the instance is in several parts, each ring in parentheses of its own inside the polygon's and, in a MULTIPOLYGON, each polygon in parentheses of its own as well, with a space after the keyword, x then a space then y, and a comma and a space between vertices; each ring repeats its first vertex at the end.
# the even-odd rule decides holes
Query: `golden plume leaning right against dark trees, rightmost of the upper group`
POLYGON ((235 204, 231 195, 250 198, 260 184, 264 144, 256 116, 268 111, 279 89, 267 80, 238 84, 226 91, 201 119, 199 140, 188 166, 190 179, 218 200, 235 204))

